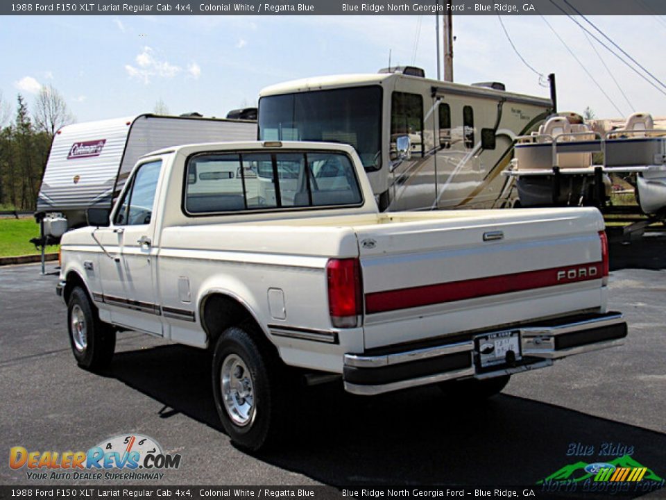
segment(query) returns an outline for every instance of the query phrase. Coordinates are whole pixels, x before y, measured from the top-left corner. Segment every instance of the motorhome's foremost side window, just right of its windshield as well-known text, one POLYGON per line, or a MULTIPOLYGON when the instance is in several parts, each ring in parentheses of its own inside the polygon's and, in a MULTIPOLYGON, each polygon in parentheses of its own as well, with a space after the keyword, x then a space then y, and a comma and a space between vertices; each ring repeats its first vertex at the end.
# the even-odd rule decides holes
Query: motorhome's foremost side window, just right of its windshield
POLYGON ((391 95, 391 157, 395 159, 395 140, 409 135, 411 154, 423 156, 423 97, 421 94, 393 92, 391 95))

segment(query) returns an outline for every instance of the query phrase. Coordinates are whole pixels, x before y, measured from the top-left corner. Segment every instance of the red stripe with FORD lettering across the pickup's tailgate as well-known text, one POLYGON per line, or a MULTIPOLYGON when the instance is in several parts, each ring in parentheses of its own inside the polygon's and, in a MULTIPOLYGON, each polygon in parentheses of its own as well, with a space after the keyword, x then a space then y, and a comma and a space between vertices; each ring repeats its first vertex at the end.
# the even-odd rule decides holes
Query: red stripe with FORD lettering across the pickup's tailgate
POLYGON ((475 278, 449 283, 436 283, 412 288, 399 288, 366 294, 366 314, 431 306, 477 297, 546 288, 577 281, 601 279, 604 263, 586 263, 552 267, 488 278, 475 278))

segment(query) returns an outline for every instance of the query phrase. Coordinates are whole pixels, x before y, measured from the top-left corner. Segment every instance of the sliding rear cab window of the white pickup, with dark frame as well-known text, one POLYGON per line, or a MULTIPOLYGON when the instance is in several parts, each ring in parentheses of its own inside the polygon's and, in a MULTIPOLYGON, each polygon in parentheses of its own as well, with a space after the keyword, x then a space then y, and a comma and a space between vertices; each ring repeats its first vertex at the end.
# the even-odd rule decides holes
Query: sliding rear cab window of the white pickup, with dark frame
POLYGON ((352 160, 334 151, 200 153, 187 160, 186 215, 363 204, 352 160))

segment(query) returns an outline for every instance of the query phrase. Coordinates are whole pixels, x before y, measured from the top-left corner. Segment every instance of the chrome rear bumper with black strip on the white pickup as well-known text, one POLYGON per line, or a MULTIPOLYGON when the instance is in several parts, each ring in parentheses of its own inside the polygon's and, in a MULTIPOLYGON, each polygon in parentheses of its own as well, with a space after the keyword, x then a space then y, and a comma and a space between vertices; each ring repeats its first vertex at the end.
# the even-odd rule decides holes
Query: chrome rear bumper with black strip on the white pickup
POLYGON ((493 331, 470 334, 466 340, 452 343, 347 353, 343 370, 345 390, 354 394, 381 394, 456 378, 491 378, 543 368, 558 358, 623 344, 626 323, 621 313, 589 313, 502 331, 520 333, 521 358, 517 362, 507 360, 504 365, 480 367, 474 338, 493 331))

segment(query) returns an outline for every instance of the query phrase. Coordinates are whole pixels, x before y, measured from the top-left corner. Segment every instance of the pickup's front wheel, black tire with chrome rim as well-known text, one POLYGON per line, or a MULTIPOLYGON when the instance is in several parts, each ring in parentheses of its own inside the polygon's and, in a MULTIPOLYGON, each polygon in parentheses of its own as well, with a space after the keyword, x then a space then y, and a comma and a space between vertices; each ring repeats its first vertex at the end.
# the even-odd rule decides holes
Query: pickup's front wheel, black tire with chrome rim
POLYGON ((100 321, 88 294, 78 286, 71 291, 67 303, 67 328, 71 352, 80 367, 95 372, 110 365, 116 348, 116 332, 110 324, 100 321), (83 328, 83 338, 80 328, 83 328))

